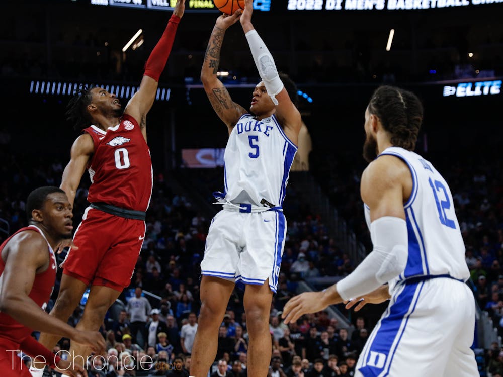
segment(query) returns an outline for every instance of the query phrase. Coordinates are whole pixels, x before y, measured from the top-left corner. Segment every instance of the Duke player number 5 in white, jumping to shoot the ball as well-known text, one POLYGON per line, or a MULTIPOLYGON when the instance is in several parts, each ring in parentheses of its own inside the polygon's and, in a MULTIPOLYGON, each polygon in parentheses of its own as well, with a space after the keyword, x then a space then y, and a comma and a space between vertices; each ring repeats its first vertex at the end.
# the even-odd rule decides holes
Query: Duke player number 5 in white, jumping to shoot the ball
POLYGON ((213 109, 226 124, 223 206, 212 220, 201 262, 201 312, 192 348, 191 376, 203 377, 215 359, 218 328, 235 282, 245 284, 249 333, 248 375, 266 375, 271 360, 269 312, 276 292, 286 234, 282 212, 290 167, 297 151, 301 117, 292 99, 295 85, 280 77, 274 60, 251 24, 253 2, 213 28, 201 79, 213 109), (225 30, 240 20, 262 81, 249 112, 234 103, 216 73, 225 30))

